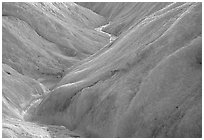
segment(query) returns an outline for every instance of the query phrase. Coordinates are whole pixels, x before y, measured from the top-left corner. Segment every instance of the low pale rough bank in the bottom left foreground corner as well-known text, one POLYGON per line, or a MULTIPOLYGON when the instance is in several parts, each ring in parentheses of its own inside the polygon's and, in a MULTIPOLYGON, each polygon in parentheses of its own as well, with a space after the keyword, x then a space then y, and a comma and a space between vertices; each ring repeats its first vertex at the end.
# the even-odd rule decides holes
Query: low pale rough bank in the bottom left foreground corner
POLYGON ((6 118, 2 123, 3 138, 77 138, 80 135, 63 126, 43 125, 6 118))

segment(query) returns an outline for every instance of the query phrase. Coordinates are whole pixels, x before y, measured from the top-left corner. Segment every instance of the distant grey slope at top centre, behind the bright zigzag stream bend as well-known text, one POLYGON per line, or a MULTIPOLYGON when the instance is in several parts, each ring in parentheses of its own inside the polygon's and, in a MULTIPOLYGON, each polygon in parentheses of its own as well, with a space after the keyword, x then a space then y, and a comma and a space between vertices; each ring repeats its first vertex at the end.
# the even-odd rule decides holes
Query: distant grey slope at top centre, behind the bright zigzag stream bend
POLYGON ((163 9, 164 7, 175 7, 182 3, 170 2, 79 2, 81 6, 92 9, 94 12, 106 18, 110 25, 103 31, 119 36, 133 24, 139 24, 149 15, 163 9))

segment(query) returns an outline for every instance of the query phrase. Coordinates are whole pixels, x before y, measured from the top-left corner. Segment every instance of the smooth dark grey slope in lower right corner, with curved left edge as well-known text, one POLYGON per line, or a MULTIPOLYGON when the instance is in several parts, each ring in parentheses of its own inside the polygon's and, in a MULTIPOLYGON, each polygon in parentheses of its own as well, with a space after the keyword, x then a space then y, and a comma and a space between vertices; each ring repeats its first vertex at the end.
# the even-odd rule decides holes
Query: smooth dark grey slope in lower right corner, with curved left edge
POLYGON ((202 137, 202 39, 154 68, 117 126, 118 137, 202 137))

